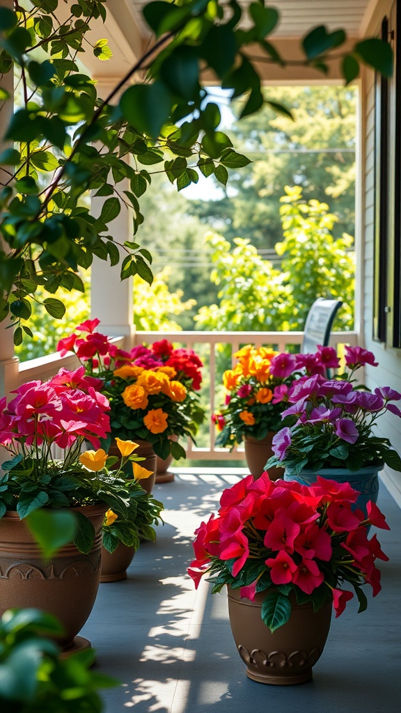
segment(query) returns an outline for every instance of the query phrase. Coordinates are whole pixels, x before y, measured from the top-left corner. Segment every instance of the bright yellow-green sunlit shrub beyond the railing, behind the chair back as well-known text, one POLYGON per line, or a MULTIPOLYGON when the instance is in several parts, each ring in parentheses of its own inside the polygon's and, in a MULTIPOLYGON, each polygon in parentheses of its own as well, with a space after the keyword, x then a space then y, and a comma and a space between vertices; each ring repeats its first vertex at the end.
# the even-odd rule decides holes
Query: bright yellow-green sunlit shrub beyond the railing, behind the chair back
POLYGON ((203 329, 280 331, 303 329, 316 297, 339 297, 345 306, 336 320, 351 329, 354 304, 352 237, 334 239, 335 215, 317 200, 302 200, 302 189, 285 188, 281 208, 284 240, 282 270, 263 260, 249 240, 235 238, 235 247, 220 235, 208 235, 220 287, 219 304, 202 307, 195 317, 203 329))

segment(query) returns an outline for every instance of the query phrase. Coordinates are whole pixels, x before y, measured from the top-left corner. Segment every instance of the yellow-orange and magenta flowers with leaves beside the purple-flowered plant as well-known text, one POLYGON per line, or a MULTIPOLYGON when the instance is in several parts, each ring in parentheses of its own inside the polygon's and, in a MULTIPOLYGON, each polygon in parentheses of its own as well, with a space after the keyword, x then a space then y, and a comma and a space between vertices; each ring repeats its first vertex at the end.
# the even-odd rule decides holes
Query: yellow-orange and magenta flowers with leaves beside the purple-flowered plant
POLYGON ((247 436, 259 439, 279 431, 291 384, 303 374, 325 374, 332 366, 331 352, 319 347, 315 354, 279 354, 252 344, 236 352, 238 364, 223 374, 225 404, 212 416, 220 431, 216 446, 232 449, 247 436))

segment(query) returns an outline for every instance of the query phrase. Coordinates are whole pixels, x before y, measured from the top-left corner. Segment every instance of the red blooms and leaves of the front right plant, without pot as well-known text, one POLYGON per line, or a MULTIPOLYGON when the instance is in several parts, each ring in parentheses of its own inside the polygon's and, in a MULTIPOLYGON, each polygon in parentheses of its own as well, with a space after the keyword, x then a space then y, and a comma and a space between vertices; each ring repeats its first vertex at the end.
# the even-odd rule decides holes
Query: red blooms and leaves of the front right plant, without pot
POLYGON ((355 509, 358 495, 349 483, 319 476, 313 486, 272 482, 267 473, 257 481, 247 476, 223 491, 218 515, 196 530, 188 573, 196 587, 207 574, 213 593, 228 585, 250 600, 271 588, 271 606, 262 610, 271 631, 288 621, 292 596, 298 604, 313 602, 315 610, 332 601, 339 616, 353 597, 342 589, 345 582, 365 610, 361 586, 377 595, 375 560, 388 559, 377 535, 367 538, 367 527, 390 528, 374 503, 367 518, 355 509))

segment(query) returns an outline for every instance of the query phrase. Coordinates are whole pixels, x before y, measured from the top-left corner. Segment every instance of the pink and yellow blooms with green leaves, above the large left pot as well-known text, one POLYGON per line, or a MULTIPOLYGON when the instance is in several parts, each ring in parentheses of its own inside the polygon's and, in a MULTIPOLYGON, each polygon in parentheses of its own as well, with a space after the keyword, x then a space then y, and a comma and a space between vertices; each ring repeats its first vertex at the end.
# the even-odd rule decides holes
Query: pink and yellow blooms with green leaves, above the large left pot
MULTIPOLYGON (((8 405, 1 399, 0 444, 10 458, 2 464, 0 518, 8 510, 23 519, 39 508, 103 502, 118 518, 104 543, 110 551, 120 540, 138 546, 140 537, 153 539, 150 525, 158 521, 163 506, 141 487, 149 471, 136 462, 143 460, 133 453, 138 445, 117 439, 121 459, 116 469, 111 466, 118 458, 99 448, 110 431, 108 399, 98 391, 102 385, 85 376, 80 366, 76 371, 61 369, 49 381, 19 386, 8 405), (86 443, 96 450, 81 452, 86 443), (133 463, 131 480, 124 475, 128 461, 133 463)), ((88 552, 93 525, 83 513, 76 518, 74 542, 78 550, 88 552)))

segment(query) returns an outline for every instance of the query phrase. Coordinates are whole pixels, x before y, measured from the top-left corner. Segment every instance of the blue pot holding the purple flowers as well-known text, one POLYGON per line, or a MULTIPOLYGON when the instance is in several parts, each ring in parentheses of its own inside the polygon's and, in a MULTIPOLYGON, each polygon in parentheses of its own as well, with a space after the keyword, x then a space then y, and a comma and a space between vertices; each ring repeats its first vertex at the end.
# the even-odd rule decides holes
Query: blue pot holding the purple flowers
POLYGON ((331 481, 338 483, 350 483, 352 488, 360 492, 357 499, 357 506, 366 515, 366 506, 368 501, 375 503, 379 494, 379 478, 377 473, 384 466, 367 466, 360 468, 359 471, 349 471, 347 468, 320 468, 319 471, 301 471, 298 476, 293 474, 284 474, 285 481, 297 481, 305 486, 310 486, 316 482, 317 476, 328 478, 331 481))

